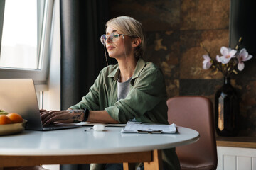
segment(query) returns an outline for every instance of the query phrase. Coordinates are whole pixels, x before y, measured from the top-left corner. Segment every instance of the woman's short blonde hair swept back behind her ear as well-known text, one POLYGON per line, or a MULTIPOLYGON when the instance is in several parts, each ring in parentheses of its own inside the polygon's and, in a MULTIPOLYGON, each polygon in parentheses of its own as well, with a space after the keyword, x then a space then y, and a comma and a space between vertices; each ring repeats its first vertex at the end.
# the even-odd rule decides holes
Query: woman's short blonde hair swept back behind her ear
POLYGON ((117 18, 110 19, 110 21, 107 21, 106 29, 109 26, 121 31, 125 35, 129 35, 134 38, 140 38, 142 42, 138 47, 136 47, 134 56, 139 58, 144 55, 146 50, 146 40, 144 30, 142 28, 142 23, 129 16, 119 16, 117 18))

